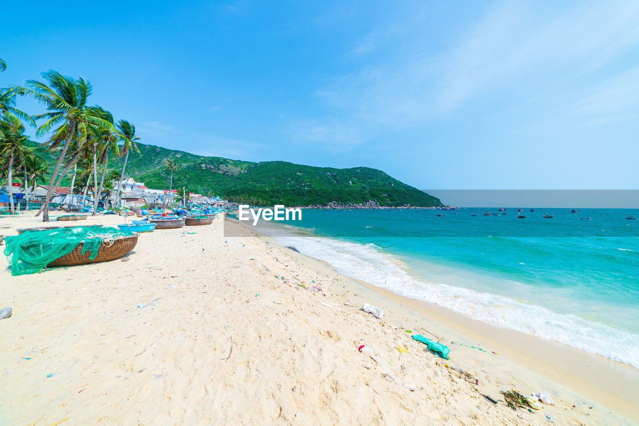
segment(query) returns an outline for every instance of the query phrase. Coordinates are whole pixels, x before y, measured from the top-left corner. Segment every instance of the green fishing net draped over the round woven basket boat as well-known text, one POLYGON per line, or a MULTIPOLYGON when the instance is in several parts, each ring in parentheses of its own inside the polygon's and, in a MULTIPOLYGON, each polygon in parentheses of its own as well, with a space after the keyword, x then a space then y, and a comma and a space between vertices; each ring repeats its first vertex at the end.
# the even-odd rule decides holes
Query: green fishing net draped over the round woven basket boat
POLYGON ((50 262, 69 254, 82 240, 82 254, 90 252, 89 259, 93 260, 103 241, 127 235, 131 235, 131 232, 101 226, 25 231, 4 239, 4 255, 11 264, 11 275, 26 275, 36 273, 46 268, 50 262))

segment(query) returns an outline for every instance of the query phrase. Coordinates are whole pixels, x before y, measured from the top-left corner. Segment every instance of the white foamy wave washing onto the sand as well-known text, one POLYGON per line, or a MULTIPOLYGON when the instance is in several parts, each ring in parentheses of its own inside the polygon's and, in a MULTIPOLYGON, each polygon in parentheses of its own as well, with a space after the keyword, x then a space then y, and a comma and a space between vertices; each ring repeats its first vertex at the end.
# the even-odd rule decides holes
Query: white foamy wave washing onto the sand
POLYGON ((556 340, 639 368, 639 336, 627 331, 498 294, 420 280, 404 271, 397 257, 374 244, 299 236, 277 236, 275 240, 328 262, 339 273, 402 296, 436 303, 484 323, 556 340))

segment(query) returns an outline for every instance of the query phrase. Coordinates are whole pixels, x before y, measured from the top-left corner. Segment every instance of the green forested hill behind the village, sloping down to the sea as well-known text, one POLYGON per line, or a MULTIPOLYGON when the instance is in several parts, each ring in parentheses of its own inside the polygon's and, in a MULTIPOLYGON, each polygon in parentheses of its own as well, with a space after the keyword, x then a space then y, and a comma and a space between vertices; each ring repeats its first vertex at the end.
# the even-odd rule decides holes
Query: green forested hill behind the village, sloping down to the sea
MULTIPOLYGON (((200 156, 139 144, 140 154, 131 153, 127 175, 149 188, 169 188, 171 172, 164 167, 167 159, 178 163, 173 174, 173 188, 187 192, 218 195, 229 201, 286 206, 326 206, 365 204, 380 206, 443 206, 436 197, 406 185, 388 174, 369 167, 334 169, 288 162, 246 162, 222 157, 200 156)), ((123 159, 109 162, 120 169, 123 159)), ((66 180, 66 179, 65 179, 66 180)))

